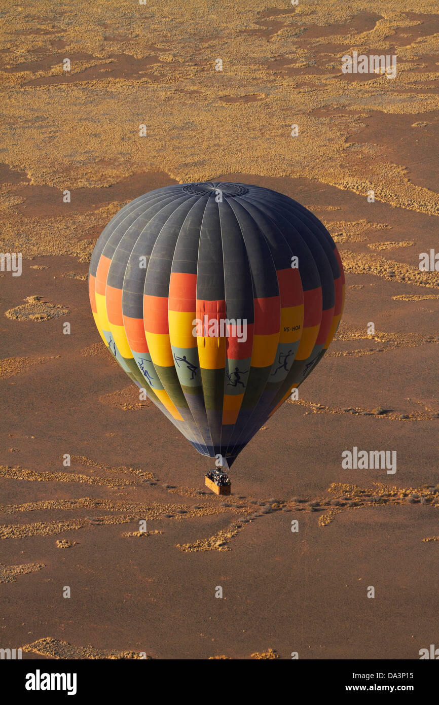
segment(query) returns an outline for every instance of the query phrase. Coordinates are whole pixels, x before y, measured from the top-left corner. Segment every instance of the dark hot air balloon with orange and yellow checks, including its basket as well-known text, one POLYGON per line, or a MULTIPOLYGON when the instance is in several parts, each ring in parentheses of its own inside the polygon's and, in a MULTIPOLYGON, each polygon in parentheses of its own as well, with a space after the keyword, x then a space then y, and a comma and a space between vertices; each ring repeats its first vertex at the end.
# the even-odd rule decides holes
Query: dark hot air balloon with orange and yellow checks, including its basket
MULTIPOLYGON (((125 205, 89 267, 107 348, 194 448, 226 471, 337 330, 340 255, 309 210, 268 188, 185 183, 125 205)), ((209 485, 209 482, 210 485, 209 485)))

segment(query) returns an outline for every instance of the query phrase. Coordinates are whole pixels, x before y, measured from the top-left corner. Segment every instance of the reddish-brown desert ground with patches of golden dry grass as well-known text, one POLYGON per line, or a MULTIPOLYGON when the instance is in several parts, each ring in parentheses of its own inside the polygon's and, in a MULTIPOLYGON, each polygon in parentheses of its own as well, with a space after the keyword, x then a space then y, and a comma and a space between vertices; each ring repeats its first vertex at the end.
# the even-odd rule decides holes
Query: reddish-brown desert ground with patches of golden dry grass
POLYGON ((439 288, 418 268, 438 242, 434 10, 2 13, 0 249, 23 253, 22 276, 0 273, 2 648, 416 659, 437 640, 439 288), (396 78, 342 74, 354 49, 396 54, 396 78), (336 340, 235 462, 230 498, 204 491, 211 464, 139 402, 87 296, 94 243, 125 202, 206 178, 302 202, 347 275, 336 340), (344 470, 353 446, 396 450, 396 474, 344 470))

